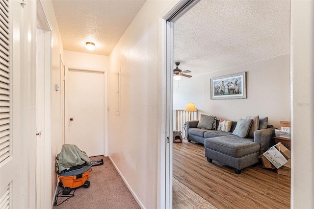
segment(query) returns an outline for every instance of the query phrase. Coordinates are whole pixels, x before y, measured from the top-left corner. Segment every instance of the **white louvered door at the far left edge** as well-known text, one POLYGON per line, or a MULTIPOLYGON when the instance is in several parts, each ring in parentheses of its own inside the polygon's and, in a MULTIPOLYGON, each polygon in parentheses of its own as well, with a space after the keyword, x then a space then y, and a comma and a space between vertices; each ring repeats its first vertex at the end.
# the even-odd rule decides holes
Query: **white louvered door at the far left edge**
MULTIPOLYGON (((19 2, 1 1, 0 44, 0 208, 23 208, 21 203, 21 107, 23 86, 21 82, 21 40, 12 41, 12 34, 19 35, 23 24, 19 2), (11 12, 12 11, 12 12, 11 12), (14 14, 16 19, 11 18, 14 14), (14 84, 14 85, 13 85, 14 84), (13 123, 14 121, 14 123, 13 123)), ((27 69, 26 69, 27 70, 27 69)), ((23 80, 24 81, 24 80, 23 80)), ((27 104, 26 104, 27 105, 27 104)))

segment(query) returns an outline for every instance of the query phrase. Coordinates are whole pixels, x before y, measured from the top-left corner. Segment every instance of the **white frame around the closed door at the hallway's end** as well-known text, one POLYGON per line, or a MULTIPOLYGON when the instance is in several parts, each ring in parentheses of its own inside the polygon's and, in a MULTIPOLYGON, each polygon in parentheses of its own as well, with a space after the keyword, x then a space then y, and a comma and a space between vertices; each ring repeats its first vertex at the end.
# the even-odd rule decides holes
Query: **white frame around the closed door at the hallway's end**
POLYGON ((64 133, 65 133, 65 143, 69 142, 69 71, 88 71, 88 72, 102 72, 104 73, 104 156, 108 156, 108 71, 100 69, 91 69, 91 68, 78 68, 73 66, 64 66, 65 73, 65 92, 64 92, 64 133))

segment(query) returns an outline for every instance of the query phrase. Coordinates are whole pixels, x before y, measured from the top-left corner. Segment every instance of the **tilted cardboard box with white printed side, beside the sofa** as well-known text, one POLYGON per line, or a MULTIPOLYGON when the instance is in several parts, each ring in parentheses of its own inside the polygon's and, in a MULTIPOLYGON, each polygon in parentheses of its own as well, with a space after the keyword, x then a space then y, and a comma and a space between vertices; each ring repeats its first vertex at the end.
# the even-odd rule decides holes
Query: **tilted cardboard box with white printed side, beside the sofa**
POLYGON ((276 168, 280 168, 285 165, 286 167, 291 167, 290 165, 290 150, 288 150, 281 142, 270 147, 263 156, 272 163, 276 168))

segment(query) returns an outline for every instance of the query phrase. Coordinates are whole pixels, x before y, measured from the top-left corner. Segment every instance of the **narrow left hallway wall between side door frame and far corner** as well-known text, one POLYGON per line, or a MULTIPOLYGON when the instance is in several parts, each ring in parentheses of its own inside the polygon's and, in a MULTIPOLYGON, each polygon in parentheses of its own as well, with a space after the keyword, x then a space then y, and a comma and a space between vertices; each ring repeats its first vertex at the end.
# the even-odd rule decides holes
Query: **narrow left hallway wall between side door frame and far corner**
MULTIPOLYGON (((55 91, 54 85, 61 84, 60 80, 60 54, 63 54, 63 46, 59 33, 58 24, 55 18, 51 0, 40 0, 44 9, 48 23, 52 28, 52 71, 51 71, 51 176, 52 176, 52 200, 57 185, 57 175, 55 173, 55 158, 61 151, 62 136, 62 111, 61 111, 61 91, 55 91)), ((35 11, 34 11, 35 12, 35 11)))

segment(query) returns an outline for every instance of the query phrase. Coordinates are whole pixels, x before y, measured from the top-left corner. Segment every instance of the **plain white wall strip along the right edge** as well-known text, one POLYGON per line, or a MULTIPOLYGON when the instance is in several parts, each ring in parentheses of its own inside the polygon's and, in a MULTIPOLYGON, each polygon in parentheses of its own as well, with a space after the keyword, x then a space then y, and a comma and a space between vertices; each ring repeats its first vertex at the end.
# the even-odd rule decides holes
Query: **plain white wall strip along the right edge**
POLYGON ((314 1, 291 1, 291 208, 314 208, 314 1))

